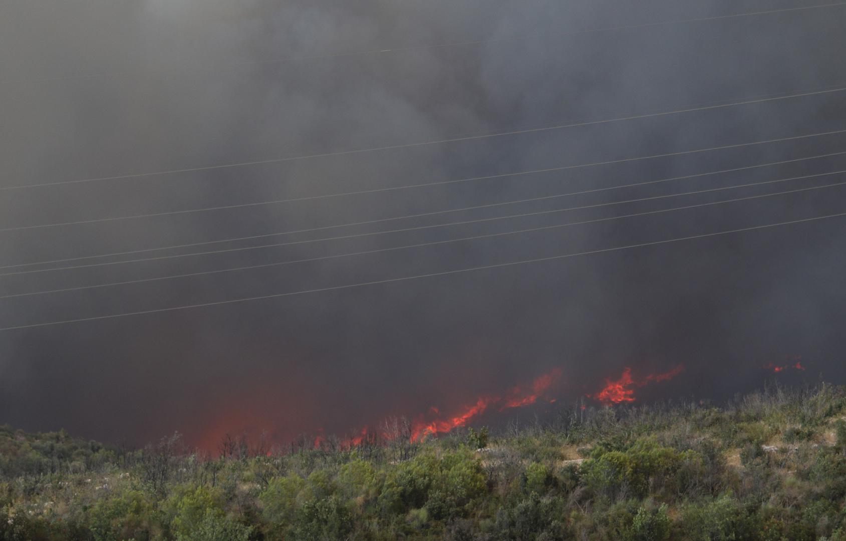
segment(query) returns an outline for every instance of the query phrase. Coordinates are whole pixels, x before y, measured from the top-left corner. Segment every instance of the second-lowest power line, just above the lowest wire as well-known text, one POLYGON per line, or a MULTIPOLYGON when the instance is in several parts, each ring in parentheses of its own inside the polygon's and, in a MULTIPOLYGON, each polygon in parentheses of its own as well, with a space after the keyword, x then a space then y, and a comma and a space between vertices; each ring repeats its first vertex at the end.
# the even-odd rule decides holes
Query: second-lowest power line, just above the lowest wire
MULTIPOLYGON (((846 171, 843 171, 843 173, 846 173, 846 171)), ((639 216, 648 216, 648 215, 651 215, 651 214, 670 213, 670 212, 674 212, 674 211, 678 211, 678 210, 686 210, 686 209, 690 209, 690 208, 710 207, 710 206, 713 206, 713 205, 722 205, 722 204, 733 203, 733 202, 737 202, 737 201, 748 201, 748 200, 751 200, 751 199, 761 199, 763 197, 783 196, 783 195, 794 194, 794 193, 810 191, 810 190, 821 190, 821 189, 824 189, 824 188, 832 188, 832 187, 835 187, 835 186, 842 186, 842 185, 846 185, 846 182, 838 182, 838 183, 830 184, 830 185, 810 186, 808 188, 799 188, 799 189, 796 189, 796 190, 778 191, 778 192, 775 192, 775 193, 772 193, 772 194, 762 194, 762 195, 759 195, 759 196, 737 197, 737 198, 734 198, 734 199, 728 199, 728 200, 724 200, 724 201, 711 201, 711 202, 707 202, 707 203, 700 203, 700 204, 697 204, 697 205, 686 205, 684 207, 665 208, 665 209, 656 210, 656 211, 649 211, 649 212, 645 212, 645 213, 632 213, 632 214, 624 214, 622 216, 612 216, 612 217, 609 217, 609 218, 597 218, 597 219, 592 219, 592 220, 584 220, 584 221, 581 221, 581 222, 570 222, 568 224, 546 225, 546 226, 543 226, 543 227, 536 227, 536 228, 529 228, 529 229, 517 229, 517 230, 514 230, 514 231, 505 231, 505 232, 501 232, 501 233, 492 233, 492 234, 488 234, 488 235, 474 235, 474 236, 470 236, 470 237, 463 237, 463 238, 460 238, 460 239, 449 239, 449 240, 437 240, 437 241, 432 241, 432 242, 423 242, 423 243, 420 243, 420 244, 414 244, 414 245, 408 245, 408 246, 393 246, 391 248, 380 248, 378 250, 355 251, 355 252, 352 252, 352 253, 336 254, 336 255, 332 255, 332 256, 322 256, 322 257, 310 257, 310 258, 307 258, 307 259, 298 259, 298 260, 294 260, 294 261, 263 263, 263 264, 259 264, 259 265, 247 265, 247 266, 244 266, 244 267, 236 267, 236 268, 222 268, 222 269, 218 269, 218 270, 203 271, 203 272, 199 272, 199 273, 173 274, 171 276, 160 276, 160 277, 156 277, 156 278, 126 280, 124 282, 113 282, 113 283, 109 283, 109 284, 83 285, 83 286, 79 286, 79 287, 63 288, 63 289, 58 289, 58 290, 32 291, 32 292, 29 292, 29 293, 17 293, 17 294, 13 294, 13 295, 2 295, 2 296, 0 296, 0 299, 12 299, 12 298, 18 298, 18 297, 32 296, 32 295, 47 295, 47 294, 50 294, 50 293, 67 293, 67 292, 70 292, 70 291, 80 291, 80 290, 93 290, 93 289, 99 289, 99 288, 111 287, 111 286, 118 286, 118 285, 142 284, 142 283, 147 283, 147 282, 157 282, 159 280, 191 278, 191 277, 194 277, 194 276, 205 276, 205 275, 208 275, 208 274, 218 274, 218 273, 233 273, 233 272, 236 272, 236 271, 251 270, 251 269, 256 269, 256 268, 279 267, 279 266, 282 266, 282 265, 291 265, 291 264, 294 264, 294 263, 325 261, 325 260, 328 260, 328 259, 338 259, 340 257, 364 256, 364 255, 382 253, 382 252, 387 252, 387 251, 407 250, 407 249, 411 249, 411 248, 422 248, 422 247, 426 247, 426 246, 437 246, 437 245, 449 244, 449 243, 453 243, 453 242, 463 242, 463 241, 467 241, 467 240, 480 240, 480 239, 488 239, 488 238, 492 238, 492 237, 499 237, 499 236, 505 236, 505 235, 518 235, 518 234, 521 234, 521 233, 531 233, 531 232, 544 231, 544 230, 549 230, 549 229, 559 229, 559 228, 569 227, 571 225, 596 224, 596 223, 600 223, 600 222, 608 222, 608 221, 613 221, 613 220, 618 220, 618 219, 623 219, 623 218, 635 218, 635 217, 639 217, 639 216)), ((683 195, 686 195, 686 194, 683 194, 683 195)))

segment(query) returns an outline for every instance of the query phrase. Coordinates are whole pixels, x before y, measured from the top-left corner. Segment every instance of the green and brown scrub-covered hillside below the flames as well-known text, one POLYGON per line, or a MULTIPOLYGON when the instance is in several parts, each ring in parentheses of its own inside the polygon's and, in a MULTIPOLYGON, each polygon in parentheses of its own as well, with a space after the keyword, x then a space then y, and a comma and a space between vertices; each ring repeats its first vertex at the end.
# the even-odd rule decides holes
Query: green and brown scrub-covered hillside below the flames
MULTIPOLYGON (((0 428, 0 539, 846 540, 846 389, 215 459, 0 428)), ((384 432, 382 432, 384 433, 384 432)))

